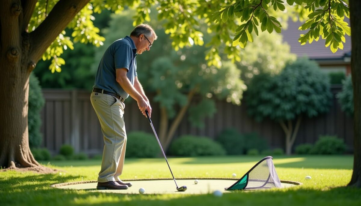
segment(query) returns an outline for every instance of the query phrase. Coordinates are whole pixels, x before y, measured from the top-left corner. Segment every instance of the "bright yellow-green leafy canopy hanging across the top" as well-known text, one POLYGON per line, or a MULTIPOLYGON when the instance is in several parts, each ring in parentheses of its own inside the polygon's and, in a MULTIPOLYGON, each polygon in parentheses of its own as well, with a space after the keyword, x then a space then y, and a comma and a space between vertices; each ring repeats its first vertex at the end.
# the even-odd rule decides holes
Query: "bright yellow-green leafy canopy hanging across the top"
MULTIPOLYGON (((29 32, 35 30, 47 17, 57 1, 39 0, 32 15, 29 32)), ((62 31, 57 39, 49 46, 43 59, 52 59, 49 69, 60 72, 65 64, 59 57, 65 49, 73 49, 73 42, 103 45, 104 37, 99 35, 99 28, 93 25, 93 13, 102 10, 112 10, 121 13, 125 7, 136 9, 132 15, 133 25, 151 21, 151 7, 157 6, 158 21, 167 34, 170 34, 172 46, 175 50, 185 46, 203 45, 204 33, 212 35, 212 41, 207 44, 205 59, 208 66, 221 67, 220 54, 227 58, 241 61, 239 51, 253 41, 253 35, 259 30, 281 32, 281 22, 284 12, 290 12, 293 18, 308 19, 301 30, 308 30, 301 35, 299 41, 305 44, 325 39, 325 45, 330 46, 332 52, 343 48, 344 35, 350 35, 350 27, 344 21, 349 18, 348 5, 342 0, 92 0, 69 23, 70 36, 62 31), (292 7, 290 6, 292 5, 292 7), (208 26, 201 30, 201 24, 208 26), (233 45, 233 46, 232 46, 233 45)))

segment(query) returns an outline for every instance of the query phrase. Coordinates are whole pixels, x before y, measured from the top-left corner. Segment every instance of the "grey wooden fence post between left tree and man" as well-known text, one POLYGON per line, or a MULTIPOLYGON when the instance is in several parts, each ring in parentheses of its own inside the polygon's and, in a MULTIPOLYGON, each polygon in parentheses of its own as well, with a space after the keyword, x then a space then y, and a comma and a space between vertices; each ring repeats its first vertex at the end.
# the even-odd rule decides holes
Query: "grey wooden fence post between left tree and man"
POLYGON ((71 91, 71 145, 75 153, 80 151, 79 141, 79 111, 78 111, 78 94, 77 90, 71 91))

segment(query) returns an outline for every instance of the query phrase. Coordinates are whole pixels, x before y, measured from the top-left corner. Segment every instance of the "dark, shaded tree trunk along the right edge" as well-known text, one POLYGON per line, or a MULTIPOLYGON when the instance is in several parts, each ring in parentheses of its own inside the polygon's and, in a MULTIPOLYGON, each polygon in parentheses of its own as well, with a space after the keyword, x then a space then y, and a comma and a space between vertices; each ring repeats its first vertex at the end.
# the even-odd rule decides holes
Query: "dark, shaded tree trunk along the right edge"
POLYGON ((351 75, 353 84, 353 173, 349 186, 361 188, 361 1, 350 0, 351 75))

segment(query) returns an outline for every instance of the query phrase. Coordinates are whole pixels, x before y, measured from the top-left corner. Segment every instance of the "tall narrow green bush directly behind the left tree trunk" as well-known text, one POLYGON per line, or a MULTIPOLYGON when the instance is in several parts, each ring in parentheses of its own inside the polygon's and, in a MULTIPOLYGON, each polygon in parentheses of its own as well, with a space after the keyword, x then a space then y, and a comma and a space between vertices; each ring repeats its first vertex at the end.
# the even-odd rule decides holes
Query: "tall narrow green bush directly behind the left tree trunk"
POLYGON ((29 109, 28 109, 28 127, 29 127, 29 146, 31 148, 39 147, 42 143, 42 134, 40 127, 42 124, 40 111, 45 104, 42 89, 36 76, 31 73, 29 77, 29 109))

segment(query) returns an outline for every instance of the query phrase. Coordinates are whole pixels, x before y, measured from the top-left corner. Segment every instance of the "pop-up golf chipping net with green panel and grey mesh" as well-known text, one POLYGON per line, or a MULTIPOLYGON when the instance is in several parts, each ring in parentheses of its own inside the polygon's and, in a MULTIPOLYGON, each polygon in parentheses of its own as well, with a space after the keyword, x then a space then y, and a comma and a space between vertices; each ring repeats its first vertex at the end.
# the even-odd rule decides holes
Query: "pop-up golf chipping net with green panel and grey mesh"
POLYGON ((268 156, 259 161, 236 183, 226 190, 256 190, 269 188, 283 188, 273 165, 272 157, 268 156))

